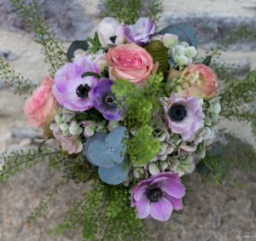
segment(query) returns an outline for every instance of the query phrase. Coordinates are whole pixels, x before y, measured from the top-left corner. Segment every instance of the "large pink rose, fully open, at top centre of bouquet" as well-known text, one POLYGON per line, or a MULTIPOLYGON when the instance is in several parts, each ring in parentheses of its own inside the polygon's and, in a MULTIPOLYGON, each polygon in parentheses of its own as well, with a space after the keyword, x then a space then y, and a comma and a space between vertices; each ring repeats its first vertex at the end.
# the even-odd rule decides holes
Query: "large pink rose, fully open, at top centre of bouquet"
POLYGON ((153 64, 151 55, 135 43, 109 49, 107 61, 110 77, 126 79, 131 83, 145 81, 158 67, 158 64, 153 64))

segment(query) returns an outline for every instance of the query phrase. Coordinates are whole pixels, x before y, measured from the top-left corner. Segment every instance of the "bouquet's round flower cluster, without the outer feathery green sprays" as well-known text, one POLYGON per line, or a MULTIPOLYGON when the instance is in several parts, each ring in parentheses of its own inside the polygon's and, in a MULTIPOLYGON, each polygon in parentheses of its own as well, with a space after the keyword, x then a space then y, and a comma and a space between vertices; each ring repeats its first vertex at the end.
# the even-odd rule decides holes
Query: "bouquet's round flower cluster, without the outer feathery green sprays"
POLYGON ((218 131, 217 76, 189 26, 156 32, 147 17, 129 26, 106 17, 89 42, 26 101, 28 124, 100 181, 127 186, 140 219, 168 221, 183 209, 183 175, 218 131))

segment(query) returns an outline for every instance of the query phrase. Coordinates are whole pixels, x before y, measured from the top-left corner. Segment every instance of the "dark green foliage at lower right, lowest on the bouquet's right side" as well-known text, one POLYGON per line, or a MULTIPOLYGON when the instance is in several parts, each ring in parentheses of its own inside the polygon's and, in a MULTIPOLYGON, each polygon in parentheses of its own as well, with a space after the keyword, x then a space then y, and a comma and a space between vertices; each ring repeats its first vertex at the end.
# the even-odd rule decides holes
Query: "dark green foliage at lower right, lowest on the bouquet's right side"
POLYGON ((220 142, 212 146, 207 157, 197 165, 197 171, 208 181, 221 184, 224 181, 236 185, 235 169, 256 170, 256 152, 253 146, 234 136, 226 135, 227 144, 220 142))

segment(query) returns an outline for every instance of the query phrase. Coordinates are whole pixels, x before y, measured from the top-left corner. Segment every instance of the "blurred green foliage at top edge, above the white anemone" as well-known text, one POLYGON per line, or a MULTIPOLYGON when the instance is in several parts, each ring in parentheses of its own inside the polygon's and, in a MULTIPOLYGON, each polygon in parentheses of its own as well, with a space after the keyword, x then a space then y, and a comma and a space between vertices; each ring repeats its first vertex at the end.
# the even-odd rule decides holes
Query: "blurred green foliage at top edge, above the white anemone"
POLYGON ((142 16, 149 16, 151 20, 160 19, 162 11, 161 0, 103 0, 104 16, 113 17, 127 25, 131 25, 142 16))

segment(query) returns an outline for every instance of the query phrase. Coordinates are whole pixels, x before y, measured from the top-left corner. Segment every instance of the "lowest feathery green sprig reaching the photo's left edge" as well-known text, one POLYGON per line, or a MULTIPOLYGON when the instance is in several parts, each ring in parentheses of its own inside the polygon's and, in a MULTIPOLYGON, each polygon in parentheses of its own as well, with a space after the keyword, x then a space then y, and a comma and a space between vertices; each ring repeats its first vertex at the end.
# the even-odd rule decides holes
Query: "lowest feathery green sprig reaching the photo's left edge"
POLYGON ((0 171, 0 183, 14 176, 22 169, 31 168, 33 165, 40 162, 48 161, 54 165, 55 162, 63 160, 64 155, 59 150, 23 150, 16 152, 4 152, 0 155, 0 160, 3 162, 3 170, 0 171))

